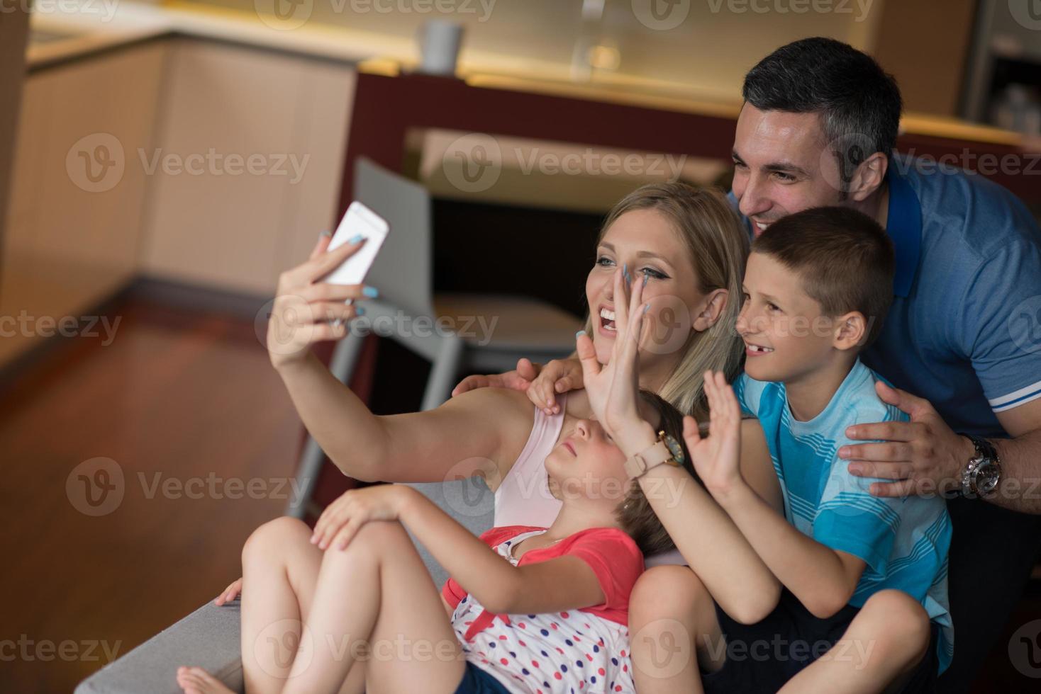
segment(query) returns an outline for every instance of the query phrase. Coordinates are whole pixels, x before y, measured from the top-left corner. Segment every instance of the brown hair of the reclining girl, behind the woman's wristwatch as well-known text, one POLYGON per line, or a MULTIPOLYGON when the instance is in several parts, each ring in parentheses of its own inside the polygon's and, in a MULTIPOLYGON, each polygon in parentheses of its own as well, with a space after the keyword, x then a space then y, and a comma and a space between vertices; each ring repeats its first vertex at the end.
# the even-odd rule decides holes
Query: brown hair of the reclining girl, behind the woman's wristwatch
MULTIPOLYGON (((693 478, 691 482, 701 484, 702 480, 697 476, 697 473, 694 472, 694 466, 690 461, 690 452, 687 450, 687 445, 683 442, 683 415, 661 396, 651 391, 640 391, 640 397, 658 412, 658 429, 663 430, 680 443, 680 448, 683 449, 683 468, 693 478)), ((671 485, 663 484, 660 489, 653 491, 653 493, 680 495, 683 493, 683 489, 682 486, 674 488, 671 485)), ((636 545, 644 555, 668 552, 676 548, 676 543, 669 537, 665 527, 661 525, 661 520, 655 514, 654 509, 651 507, 651 502, 648 501, 639 483, 632 483, 632 486, 626 492, 625 499, 618 504, 616 513, 618 525, 633 538, 633 541, 636 542, 636 545)))

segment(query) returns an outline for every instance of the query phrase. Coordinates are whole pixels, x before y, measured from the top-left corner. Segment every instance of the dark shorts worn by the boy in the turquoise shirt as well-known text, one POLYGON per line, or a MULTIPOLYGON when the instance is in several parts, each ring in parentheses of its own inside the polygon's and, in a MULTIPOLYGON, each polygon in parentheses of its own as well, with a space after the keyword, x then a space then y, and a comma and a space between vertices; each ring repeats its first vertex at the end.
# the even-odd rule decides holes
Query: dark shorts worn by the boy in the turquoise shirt
MULTIPOLYGON (((782 590, 777 608, 765 619, 755 624, 741 624, 716 605, 716 618, 726 646, 720 643, 709 644, 709 647, 726 647, 727 660, 716 672, 702 673, 706 694, 777 692, 842 638, 858 612, 859 608, 847 605, 837 614, 820 619, 810 614, 791 592, 782 590)), ((929 649, 904 692, 936 690, 937 638, 938 628, 934 624, 929 649)), ((859 656, 853 649, 848 655, 850 658, 859 656)))

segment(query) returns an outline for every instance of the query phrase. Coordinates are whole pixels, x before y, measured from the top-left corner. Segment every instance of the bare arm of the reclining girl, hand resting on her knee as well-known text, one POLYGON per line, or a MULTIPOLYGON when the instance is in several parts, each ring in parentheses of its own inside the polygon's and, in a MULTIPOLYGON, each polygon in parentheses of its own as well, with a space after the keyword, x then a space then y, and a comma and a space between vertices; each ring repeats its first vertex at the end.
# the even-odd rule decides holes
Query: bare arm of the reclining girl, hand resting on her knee
POLYGON ((352 489, 330 504, 311 542, 335 552, 365 523, 400 520, 459 585, 487 610, 543 613, 604 603, 592 568, 578 557, 513 566, 415 489, 383 484, 352 489))

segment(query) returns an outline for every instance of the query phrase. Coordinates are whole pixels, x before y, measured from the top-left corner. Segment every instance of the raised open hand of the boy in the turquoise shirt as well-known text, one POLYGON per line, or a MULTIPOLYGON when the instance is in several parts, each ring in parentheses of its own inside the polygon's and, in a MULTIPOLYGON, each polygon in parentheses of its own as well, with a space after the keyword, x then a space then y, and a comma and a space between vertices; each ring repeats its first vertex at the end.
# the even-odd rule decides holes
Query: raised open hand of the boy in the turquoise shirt
POLYGON ((713 497, 730 493, 743 483, 740 469, 741 406, 722 372, 705 372, 709 401, 709 435, 702 437, 697 422, 683 418, 683 438, 705 487, 713 497))

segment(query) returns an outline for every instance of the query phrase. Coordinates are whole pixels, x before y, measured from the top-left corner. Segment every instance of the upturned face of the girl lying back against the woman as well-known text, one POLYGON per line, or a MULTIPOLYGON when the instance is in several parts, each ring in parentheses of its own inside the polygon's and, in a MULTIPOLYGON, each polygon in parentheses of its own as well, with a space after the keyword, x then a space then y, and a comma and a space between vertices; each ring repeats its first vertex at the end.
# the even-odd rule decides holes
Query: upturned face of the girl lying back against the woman
POLYGON ((545 457, 550 493, 613 512, 625 499, 626 455, 595 420, 579 420, 545 457))

